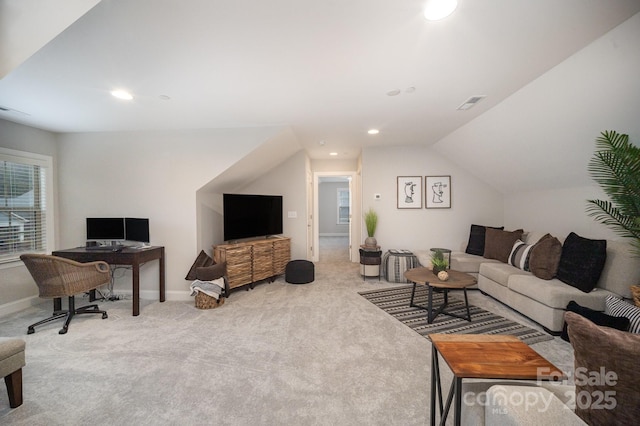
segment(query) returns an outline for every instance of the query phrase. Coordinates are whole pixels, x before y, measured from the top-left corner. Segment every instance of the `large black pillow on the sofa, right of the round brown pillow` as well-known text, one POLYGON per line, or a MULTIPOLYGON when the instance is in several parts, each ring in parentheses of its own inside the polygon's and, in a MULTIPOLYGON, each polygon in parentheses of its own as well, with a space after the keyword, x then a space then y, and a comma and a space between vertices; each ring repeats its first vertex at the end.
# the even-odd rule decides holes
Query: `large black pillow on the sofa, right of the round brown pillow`
POLYGON ((562 245, 556 277, 589 293, 598 284, 607 259, 607 240, 591 240, 572 232, 562 245))

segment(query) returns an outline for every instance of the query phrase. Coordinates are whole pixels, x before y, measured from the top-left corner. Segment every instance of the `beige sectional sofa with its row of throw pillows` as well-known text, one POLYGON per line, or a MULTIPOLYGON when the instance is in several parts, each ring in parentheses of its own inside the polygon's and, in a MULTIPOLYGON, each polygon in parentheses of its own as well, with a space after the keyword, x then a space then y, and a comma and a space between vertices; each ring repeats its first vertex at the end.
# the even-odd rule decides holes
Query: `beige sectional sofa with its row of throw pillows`
MULTIPOLYGON (((416 256, 428 267, 428 251, 416 256)), ((472 225, 464 251, 452 252, 451 268, 475 276, 480 291, 552 334, 561 333, 570 301, 604 311, 608 295, 630 298, 630 286, 640 284, 640 258, 626 242, 574 233, 561 241, 544 232, 480 225, 472 225)))

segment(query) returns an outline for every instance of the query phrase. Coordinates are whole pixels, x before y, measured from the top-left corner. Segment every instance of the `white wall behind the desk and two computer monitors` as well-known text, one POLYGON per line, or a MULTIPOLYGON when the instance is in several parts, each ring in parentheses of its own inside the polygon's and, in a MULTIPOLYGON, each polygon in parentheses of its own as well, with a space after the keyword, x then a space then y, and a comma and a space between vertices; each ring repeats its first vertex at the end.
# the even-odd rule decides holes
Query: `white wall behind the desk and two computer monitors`
MULTIPOLYGON (((85 242, 85 218, 148 217, 165 246, 167 298, 188 297, 184 280, 197 246, 196 191, 269 138, 274 129, 60 135, 60 248, 85 242)), ((141 297, 156 299, 156 264, 141 269, 141 297)), ((126 273, 117 292, 131 291, 126 273)))

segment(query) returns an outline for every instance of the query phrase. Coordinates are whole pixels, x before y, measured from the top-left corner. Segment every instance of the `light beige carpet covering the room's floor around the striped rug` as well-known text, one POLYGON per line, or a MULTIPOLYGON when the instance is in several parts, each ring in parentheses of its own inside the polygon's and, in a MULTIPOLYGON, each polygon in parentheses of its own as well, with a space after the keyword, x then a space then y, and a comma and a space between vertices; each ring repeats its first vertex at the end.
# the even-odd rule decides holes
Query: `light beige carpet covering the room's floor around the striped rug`
MULTIPOLYGON (((27 342, 24 404, 9 409, 0 391, 0 424, 427 424, 429 341, 358 294, 395 284, 336 259, 316 264, 311 284, 280 277, 212 310, 148 301, 132 317, 130 300, 101 302, 108 319, 77 317, 66 335, 59 322, 26 335, 48 304, 0 318, 1 335, 27 342)), ((559 338, 532 347, 571 370, 559 338)))

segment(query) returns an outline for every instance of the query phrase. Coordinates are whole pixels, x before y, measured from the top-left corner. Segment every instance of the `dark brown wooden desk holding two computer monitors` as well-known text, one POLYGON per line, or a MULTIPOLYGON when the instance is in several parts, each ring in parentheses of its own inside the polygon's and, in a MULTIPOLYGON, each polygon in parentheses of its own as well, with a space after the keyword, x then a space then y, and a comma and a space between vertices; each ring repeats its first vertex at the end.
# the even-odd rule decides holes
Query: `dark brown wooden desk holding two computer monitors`
POLYGON ((93 262, 102 260, 110 265, 131 265, 133 269, 133 316, 140 315, 140 265, 151 260, 158 260, 160 302, 165 301, 164 281, 164 247, 153 246, 144 249, 123 248, 121 251, 87 250, 76 247, 56 250, 54 256, 75 260, 76 262, 93 262))

